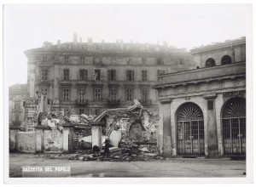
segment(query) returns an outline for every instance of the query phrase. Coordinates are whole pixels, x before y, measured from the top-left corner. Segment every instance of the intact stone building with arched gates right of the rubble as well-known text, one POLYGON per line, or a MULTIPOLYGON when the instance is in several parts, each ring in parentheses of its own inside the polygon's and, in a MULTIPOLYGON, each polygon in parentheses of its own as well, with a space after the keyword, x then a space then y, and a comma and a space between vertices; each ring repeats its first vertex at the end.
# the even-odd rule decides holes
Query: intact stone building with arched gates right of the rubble
POLYGON ((193 48, 195 69, 160 75, 166 156, 246 154, 246 38, 193 48))

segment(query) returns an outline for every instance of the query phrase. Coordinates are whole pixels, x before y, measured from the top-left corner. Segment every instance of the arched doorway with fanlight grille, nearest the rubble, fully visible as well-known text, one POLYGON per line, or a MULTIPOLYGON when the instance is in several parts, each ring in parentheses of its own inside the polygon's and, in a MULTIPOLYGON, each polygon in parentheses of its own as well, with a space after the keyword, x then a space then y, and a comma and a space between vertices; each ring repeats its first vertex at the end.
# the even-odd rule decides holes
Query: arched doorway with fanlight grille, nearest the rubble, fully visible
POLYGON ((185 103, 177 109, 177 155, 205 153, 204 121, 201 108, 185 103))

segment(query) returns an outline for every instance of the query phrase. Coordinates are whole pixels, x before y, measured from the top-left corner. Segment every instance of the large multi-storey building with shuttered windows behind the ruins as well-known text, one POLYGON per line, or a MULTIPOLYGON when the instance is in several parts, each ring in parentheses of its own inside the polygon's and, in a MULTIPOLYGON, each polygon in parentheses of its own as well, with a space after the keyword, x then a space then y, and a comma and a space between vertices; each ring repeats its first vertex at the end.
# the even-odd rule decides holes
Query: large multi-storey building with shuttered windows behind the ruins
MULTIPOLYGON (((96 115, 108 108, 127 107, 133 99, 158 111, 152 87, 161 73, 190 68, 192 56, 185 49, 148 43, 44 42, 42 48, 26 50, 27 93, 48 99, 51 111, 72 107, 78 114, 96 115)), ((34 106, 32 106, 34 107, 34 106)), ((27 113, 31 113, 27 111, 27 113)), ((31 118, 31 115, 27 115, 31 118)), ((28 119, 30 121, 30 119, 28 119)))

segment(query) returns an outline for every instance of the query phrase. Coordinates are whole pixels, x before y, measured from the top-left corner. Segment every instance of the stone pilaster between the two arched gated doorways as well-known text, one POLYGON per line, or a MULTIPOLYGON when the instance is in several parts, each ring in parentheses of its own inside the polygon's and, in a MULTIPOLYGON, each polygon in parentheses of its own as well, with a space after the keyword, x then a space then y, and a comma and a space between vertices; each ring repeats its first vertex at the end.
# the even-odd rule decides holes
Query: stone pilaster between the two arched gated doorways
POLYGON ((203 96, 207 99, 207 148, 209 157, 218 156, 218 136, 216 123, 216 94, 207 94, 203 96))

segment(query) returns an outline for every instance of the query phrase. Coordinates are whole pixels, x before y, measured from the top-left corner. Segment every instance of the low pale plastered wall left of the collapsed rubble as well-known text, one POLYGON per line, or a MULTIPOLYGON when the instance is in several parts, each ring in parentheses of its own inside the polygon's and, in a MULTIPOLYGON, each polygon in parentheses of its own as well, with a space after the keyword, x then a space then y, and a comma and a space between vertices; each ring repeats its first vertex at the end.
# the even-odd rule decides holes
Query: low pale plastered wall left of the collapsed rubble
POLYGON ((35 131, 21 132, 9 129, 9 151, 21 153, 73 152, 73 127, 64 127, 63 131, 49 127, 36 127, 35 131))

